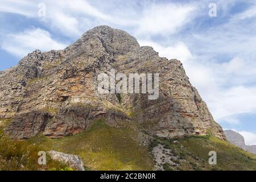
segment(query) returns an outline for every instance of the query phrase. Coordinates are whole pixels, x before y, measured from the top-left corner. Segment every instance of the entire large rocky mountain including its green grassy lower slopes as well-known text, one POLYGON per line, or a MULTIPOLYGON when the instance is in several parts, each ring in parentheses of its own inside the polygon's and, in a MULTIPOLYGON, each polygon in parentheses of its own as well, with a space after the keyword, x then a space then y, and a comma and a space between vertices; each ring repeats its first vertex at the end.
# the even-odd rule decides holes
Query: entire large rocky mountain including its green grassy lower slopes
POLYGON ((31 166, 38 151, 79 155, 93 170, 233 169, 234 163, 256 169, 254 155, 226 142, 179 60, 159 57, 108 26, 85 32, 64 50, 29 53, 1 72, 0 96, 0 169, 61 168, 52 161, 31 166), (158 97, 98 92, 98 77, 113 81, 113 70, 147 75, 147 89, 159 78, 158 97), (208 163, 213 150, 217 166, 208 163))

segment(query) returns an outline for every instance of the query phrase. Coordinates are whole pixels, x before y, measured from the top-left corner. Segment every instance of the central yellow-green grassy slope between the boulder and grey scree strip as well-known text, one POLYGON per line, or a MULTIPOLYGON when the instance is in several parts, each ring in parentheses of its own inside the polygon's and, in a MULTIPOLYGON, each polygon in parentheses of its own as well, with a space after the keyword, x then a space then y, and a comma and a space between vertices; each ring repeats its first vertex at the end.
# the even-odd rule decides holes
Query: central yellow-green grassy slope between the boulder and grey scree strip
POLYGON ((150 170, 152 160, 148 148, 141 146, 137 139, 133 129, 110 127, 98 120, 80 134, 60 139, 39 135, 24 143, 45 151, 79 155, 85 166, 92 170, 150 170))

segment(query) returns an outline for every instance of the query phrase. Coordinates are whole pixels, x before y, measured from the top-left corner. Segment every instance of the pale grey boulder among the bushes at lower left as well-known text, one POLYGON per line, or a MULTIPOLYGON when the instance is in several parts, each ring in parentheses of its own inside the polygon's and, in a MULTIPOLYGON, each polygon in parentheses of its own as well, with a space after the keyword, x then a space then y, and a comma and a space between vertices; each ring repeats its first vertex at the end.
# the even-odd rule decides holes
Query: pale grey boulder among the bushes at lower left
POLYGON ((59 162, 68 164, 70 168, 75 169, 77 171, 84 171, 84 163, 77 155, 64 154, 62 152, 57 152, 54 150, 51 150, 47 153, 53 160, 57 160, 59 162))

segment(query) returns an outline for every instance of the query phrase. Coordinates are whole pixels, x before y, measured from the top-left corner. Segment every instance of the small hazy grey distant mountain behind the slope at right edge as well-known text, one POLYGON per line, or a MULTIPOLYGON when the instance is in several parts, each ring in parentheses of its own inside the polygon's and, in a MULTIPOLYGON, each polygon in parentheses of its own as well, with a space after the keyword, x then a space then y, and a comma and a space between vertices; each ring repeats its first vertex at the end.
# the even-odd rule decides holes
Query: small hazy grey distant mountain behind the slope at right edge
POLYGON ((245 144, 245 139, 243 138, 243 136, 237 133, 236 131, 225 130, 224 133, 225 133, 226 139, 230 143, 233 143, 235 146, 240 147, 245 151, 256 154, 256 146, 247 146, 245 144))

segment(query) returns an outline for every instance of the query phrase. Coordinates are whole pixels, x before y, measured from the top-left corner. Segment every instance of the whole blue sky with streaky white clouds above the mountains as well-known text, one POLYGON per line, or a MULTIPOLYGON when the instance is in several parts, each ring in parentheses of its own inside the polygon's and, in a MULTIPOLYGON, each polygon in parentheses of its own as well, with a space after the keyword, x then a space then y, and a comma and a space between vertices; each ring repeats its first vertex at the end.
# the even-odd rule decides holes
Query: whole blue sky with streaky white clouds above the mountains
POLYGON ((214 119, 256 144, 253 0, 0 0, 0 24, 0 70, 35 49, 63 49, 95 26, 125 30, 141 46, 181 60, 214 119), (210 3, 217 16, 209 16, 210 3))

